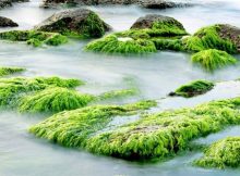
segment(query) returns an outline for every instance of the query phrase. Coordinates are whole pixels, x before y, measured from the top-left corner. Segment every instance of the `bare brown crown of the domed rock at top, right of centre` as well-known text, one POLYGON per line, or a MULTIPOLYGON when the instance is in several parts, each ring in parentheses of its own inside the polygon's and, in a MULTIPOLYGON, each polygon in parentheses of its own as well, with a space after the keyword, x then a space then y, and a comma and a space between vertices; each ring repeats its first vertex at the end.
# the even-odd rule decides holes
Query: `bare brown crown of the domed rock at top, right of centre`
POLYGON ((136 20, 131 29, 137 28, 152 28, 155 23, 169 24, 170 26, 177 26, 179 29, 184 30, 183 25, 173 17, 163 16, 158 14, 148 14, 136 20))

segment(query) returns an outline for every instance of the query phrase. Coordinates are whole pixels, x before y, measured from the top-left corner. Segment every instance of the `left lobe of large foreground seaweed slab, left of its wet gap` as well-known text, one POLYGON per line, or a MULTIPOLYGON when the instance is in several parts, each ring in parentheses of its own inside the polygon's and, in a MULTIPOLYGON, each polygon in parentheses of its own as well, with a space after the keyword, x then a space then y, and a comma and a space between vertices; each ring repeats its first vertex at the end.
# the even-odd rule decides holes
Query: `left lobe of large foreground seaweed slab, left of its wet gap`
POLYGON ((31 127, 29 131, 65 147, 81 148, 87 138, 107 126, 117 115, 133 115, 155 106, 155 101, 141 101, 127 105, 94 105, 58 113, 31 127))

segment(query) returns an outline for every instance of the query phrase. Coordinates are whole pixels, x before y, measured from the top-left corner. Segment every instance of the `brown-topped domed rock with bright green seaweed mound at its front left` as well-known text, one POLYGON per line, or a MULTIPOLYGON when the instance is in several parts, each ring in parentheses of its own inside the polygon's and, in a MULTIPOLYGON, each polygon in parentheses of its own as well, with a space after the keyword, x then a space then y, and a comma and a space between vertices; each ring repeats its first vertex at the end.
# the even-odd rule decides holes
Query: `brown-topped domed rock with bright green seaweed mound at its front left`
POLYGON ((105 53, 151 53, 158 49, 157 39, 173 40, 187 34, 182 24, 172 17, 146 15, 139 18, 129 30, 89 42, 86 50, 105 53))

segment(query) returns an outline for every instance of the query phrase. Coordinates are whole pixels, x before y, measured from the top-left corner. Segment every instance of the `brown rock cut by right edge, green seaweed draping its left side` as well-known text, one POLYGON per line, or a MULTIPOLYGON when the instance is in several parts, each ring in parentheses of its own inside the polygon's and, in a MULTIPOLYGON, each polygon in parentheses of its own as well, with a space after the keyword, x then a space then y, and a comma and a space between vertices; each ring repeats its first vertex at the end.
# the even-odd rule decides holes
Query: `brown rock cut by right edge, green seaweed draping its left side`
POLYGON ((218 49, 228 53, 240 52, 240 28, 227 24, 203 27, 193 36, 183 39, 187 51, 218 49))

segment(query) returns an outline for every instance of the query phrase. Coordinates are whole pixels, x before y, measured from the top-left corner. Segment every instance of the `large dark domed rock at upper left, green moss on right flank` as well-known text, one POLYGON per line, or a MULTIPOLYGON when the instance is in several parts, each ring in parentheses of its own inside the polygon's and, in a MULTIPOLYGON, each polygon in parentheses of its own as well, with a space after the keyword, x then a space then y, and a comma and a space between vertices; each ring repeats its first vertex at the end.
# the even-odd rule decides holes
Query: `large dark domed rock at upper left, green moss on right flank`
POLYGON ((95 12, 77 9, 56 13, 37 25, 35 29, 77 38, 97 38, 110 27, 95 12))

